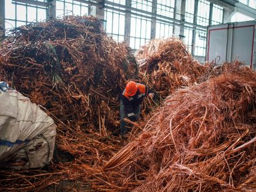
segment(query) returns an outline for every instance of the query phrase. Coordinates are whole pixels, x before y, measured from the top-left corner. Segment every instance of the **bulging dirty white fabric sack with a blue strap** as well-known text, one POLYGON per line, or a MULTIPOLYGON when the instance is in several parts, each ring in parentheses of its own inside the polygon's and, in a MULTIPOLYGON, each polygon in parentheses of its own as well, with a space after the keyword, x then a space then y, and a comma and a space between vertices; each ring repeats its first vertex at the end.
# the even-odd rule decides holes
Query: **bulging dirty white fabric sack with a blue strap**
POLYGON ((17 90, 0 93, 0 164, 15 169, 49 164, 54 153, 54 120, 17 90))

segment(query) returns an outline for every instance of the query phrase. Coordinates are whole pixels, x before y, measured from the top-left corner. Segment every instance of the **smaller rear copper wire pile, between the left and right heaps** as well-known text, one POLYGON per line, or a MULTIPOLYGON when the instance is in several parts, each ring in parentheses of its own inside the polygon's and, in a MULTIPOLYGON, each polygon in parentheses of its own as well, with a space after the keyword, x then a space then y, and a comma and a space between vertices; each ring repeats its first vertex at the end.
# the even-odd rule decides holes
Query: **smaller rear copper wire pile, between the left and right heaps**
POLYGON ((166 98, 180 87, 199 81, 206 67, 194 60, 177 38, 153 39, 135 52, 140 79, 166 98))

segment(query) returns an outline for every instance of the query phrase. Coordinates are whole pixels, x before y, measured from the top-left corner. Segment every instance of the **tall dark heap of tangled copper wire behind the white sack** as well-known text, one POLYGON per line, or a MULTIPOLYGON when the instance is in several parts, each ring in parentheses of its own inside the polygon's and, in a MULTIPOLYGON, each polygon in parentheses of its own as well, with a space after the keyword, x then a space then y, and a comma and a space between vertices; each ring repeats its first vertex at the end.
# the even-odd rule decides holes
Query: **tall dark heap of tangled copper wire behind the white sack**
POLYGON ((1 79, 73 129, 108 135, 126 72, 137 66, 100 26, 94 17, 66 17, 18 28, 0 50, 1 79))

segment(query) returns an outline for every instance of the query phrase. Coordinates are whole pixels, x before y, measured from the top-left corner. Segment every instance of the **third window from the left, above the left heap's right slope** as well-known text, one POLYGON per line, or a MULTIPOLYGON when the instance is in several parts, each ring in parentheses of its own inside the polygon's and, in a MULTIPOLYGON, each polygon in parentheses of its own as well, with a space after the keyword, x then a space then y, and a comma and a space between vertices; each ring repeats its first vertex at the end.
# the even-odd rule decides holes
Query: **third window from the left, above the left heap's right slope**
MULTIPOLYGON (((125 5, 126 1, 124 0, 110 0, 110 2, 115 2, 118 4, 125 5)), ((116 9, 122 9, 117 6, 109 6, 116 9)), ((124 9, 122 9, 124 10, 124 9)), ((125 23, 125 14, 112 9, 105 9, 105 31, 116 41, 124 41, 124 23, 125 23)))

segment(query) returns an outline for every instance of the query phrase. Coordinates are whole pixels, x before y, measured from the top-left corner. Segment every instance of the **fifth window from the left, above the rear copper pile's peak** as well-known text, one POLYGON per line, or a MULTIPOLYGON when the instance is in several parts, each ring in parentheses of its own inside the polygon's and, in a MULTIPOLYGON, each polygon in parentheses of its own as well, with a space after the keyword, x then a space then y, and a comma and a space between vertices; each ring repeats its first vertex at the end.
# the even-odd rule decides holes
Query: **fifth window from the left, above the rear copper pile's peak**
MULTIPOLYGON (((169 18, 174 18, 174 7, 175 1, 158 0, 156 14, 169 18)), ((157 17, 157 19, 159 18, 157 17)), ((161 20, 167 21, 167 19, 165 18, 161 18, 161 20)), ((173 30, 173 25, 156 20, 156 38, 168 38, 172 36, 173 30)))

